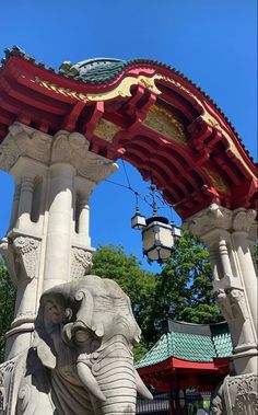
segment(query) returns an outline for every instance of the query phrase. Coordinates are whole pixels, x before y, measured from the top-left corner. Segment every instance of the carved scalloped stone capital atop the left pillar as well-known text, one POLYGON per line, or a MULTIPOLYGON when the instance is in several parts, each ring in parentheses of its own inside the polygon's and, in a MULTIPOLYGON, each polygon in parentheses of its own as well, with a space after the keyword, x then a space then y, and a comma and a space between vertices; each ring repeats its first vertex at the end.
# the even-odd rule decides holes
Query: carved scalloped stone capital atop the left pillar
POLYGON ((58 131, 50 135, 14 123, 0 149, 0 169, 10 171, 19 157, 24 155, 46 165, 68 162, 77 174, 98 183, 117 170, 110 160, 89 151, 90 142, 79 132, 58 131))

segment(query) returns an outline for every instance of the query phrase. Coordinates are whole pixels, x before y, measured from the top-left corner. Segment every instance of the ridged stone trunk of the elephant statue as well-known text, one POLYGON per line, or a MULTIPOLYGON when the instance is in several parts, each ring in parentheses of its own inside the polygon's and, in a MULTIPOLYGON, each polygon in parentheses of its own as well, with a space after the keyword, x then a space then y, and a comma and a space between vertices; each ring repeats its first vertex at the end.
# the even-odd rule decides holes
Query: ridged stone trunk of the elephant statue
POLYGON ((92 372, 106 400, 94 400, 96 415, 136 414, 136 372, 125 337, 119 336, 101 350, 92 372))

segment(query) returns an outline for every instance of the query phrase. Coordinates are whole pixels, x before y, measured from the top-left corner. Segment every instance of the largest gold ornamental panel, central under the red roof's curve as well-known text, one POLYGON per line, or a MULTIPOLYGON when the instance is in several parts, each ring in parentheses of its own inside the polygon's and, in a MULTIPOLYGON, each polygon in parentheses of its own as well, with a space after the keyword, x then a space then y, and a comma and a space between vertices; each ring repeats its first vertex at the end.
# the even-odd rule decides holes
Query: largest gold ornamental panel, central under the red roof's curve
POLYGON ((160 105, 151 106, 142 124, 172 140, 187 143, 184 125, 171 112, 160 105))

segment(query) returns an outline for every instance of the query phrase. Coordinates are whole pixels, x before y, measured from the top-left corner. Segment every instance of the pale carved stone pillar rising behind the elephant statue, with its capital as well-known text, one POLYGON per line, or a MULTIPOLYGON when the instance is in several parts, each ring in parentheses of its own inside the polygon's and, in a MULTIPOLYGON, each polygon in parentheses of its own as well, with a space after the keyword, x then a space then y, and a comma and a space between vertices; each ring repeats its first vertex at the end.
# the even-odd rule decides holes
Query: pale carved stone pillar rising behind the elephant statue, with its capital
POLYGON ((1 143, 0 169, 17 183, 9 232, 0 241, 17 287, 15 316, 7 334, 7 357, 12 358, 32 344, 43 291, 90 273, 90 194, 116 165, 89 151, 81 134, 61 130, 52 137, 14 123, 1 143))

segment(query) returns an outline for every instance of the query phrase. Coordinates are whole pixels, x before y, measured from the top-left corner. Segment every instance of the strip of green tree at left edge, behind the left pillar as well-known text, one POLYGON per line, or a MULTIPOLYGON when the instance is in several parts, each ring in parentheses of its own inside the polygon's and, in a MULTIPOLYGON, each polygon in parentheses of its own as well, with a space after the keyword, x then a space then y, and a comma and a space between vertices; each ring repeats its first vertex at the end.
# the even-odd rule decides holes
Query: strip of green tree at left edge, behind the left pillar
POLYGON ((0 258, 0 361, 3 360, 5 336, 13 320, 15 288, 12 285, 7 266, 0 258))

